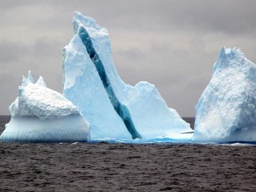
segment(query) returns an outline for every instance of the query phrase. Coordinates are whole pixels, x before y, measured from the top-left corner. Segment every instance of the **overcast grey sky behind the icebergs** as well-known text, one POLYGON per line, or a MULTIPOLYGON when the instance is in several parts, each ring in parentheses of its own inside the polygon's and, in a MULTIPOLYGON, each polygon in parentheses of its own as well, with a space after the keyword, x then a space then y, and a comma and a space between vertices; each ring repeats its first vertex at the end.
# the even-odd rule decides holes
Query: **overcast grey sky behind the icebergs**
POLYGON ((79 11, 107 28, 124 82, 151 82, 181 117, 195 117, 223 46, 256 63, 255 8, 251 0, 1 0, 0 114, 10 114, 28 70, 62 91, 62 50, 79 11))

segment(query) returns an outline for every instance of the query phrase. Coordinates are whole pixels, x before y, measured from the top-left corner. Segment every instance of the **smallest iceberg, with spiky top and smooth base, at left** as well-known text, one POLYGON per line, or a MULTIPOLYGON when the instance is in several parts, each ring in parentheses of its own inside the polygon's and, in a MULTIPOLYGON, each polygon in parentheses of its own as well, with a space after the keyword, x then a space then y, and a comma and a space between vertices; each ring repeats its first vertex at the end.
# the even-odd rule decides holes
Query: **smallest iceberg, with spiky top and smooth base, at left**
POLYGON ((1 142, 86 142, 90 124, 78 107, 63 95, 46 87, 40 77, 34 84, 28 72, 10 105, 11 121, 0 136, 1 142))

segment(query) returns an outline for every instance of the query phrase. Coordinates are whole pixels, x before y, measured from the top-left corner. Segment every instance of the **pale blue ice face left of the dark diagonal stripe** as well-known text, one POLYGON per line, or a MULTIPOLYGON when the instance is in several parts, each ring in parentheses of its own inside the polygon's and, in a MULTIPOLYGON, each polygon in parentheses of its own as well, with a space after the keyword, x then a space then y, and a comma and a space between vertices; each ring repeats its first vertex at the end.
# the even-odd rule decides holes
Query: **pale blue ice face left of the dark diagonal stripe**
POLYGON ((95 138, 132 139, 115 112, 85 46, 75 34, 63 49, 63 95, 79 106, 95 138))

